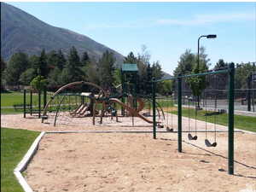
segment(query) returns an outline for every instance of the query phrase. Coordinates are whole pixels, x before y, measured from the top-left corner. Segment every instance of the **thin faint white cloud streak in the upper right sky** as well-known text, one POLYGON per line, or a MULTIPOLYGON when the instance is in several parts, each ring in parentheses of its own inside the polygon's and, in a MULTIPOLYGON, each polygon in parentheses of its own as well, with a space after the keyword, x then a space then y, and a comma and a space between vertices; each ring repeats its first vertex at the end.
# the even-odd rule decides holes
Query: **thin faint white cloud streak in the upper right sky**
POLYGON ((160 25, 196 26, 220 22, 236 22, 245 20, 256 20, 253 13, 232 13, 216 15, 195 15, 190 20, 160 19, 156 22, 160 25))

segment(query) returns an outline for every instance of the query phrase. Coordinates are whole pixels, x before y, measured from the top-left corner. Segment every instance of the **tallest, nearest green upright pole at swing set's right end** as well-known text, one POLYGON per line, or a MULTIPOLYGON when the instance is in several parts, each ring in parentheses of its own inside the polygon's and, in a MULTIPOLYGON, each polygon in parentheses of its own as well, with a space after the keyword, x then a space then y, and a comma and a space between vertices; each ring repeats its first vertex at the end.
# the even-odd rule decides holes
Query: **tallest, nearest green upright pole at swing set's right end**
POLYGON ((229 174, 234 174, 234 63, 230 64, 229 74, 229 174))

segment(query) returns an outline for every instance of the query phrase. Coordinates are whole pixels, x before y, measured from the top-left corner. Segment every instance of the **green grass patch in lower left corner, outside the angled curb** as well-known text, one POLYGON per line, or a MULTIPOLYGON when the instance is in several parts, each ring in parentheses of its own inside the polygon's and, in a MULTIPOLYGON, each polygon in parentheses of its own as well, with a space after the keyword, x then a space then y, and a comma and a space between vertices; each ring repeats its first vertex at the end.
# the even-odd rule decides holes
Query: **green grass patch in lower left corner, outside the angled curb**
POLYGON ((37 131, 1 128, 1 191, 23 192, 14 169, 38 135, 37 131))

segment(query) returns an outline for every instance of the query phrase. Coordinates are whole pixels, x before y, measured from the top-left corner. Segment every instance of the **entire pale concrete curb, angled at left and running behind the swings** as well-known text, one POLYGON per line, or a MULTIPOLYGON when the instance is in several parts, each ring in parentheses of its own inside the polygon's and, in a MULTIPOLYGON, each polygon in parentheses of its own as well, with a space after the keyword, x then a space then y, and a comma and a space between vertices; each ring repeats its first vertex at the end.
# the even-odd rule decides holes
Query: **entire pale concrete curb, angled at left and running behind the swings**
MULTIPOLYGON (((44 131, 41 132, 40 135, 35 139, 35 141, 32 143, 32 146, 28 149, 28 151, 26 152, 25 156, 22 158, 22 160, 20 160, 20 163, 18 164, 18 166, 15 167, 14 170, 14 174, 15 177, 17 178, 17 180, 19 181, 21 187, 24 189, 25 192, 33 192, 32 188, 28 185, 28 183, 26 183, 25 178, 22 176, 21 172, 23 172, 24 170, 26 170, 27 165, 29 164, 29 162, 32 160, 32 157, 34 156, 34 154, 37 153, 38 151, 38 145, 41 141, 41 139, 44 137, 45 134, 47 133, 151 133, 153 131, 112 131, 112 130, 108 130, 108 131, 44 131)), ((159 133, 177 133, 177 131, 157 131, 159 133)), ((188 131, 186 131, 188 132, 188 131)), ((201 132, 201 131, 199 131, 201 132)), ((220 131, 222 132, 222 131, 220 131)), ((244 131, 244 130, 239 130, 236 129, 236 132, 246 132, 246 133, 250 133, 250 134, 256 134, 252 131, 244 131)))

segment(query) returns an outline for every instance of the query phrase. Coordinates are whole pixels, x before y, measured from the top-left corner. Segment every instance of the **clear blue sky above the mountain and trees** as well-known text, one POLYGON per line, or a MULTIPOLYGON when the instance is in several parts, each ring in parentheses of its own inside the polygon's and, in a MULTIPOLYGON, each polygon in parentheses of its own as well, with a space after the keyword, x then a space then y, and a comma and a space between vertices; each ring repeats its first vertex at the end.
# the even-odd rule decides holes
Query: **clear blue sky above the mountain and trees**
POLYGON ((212 66, 256 61, 256 3, 9 3, 52 26, 84 34, 122 55, 141 52, 167 73, 200 35, 212 66))

